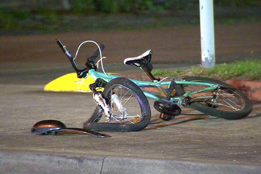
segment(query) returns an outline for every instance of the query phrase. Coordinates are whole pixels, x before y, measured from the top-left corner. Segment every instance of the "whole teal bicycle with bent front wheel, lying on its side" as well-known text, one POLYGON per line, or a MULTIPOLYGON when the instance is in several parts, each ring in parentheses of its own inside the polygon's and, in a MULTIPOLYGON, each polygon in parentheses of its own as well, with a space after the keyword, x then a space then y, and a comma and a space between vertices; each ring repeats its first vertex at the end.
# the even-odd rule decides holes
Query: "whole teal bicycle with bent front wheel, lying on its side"
POLYGON ((126 58, 124 64, 141 68, 151 81, 138 81, 107 74, 103 68, 103 44, 94 41, 82 42, 75 57, 59 39, 57 44, 69 58, 78 78, 91 76, 94 83, 89 85, 93 99, 97 104, 91 117, 83 123, 83 128, 93 131, 132 132, 144 129, 150 121, 151 110, 147 98, 155 100, 154 108, 160 112, 164 121, 181 114, 181 107, 190 107, 206 115, 224 119, 240 119, 252 111, 248 96, 232 85, 206 77, 159 79, 151 73, 152 50, 137 56, 126 58), (87 42, 97 45, 98 49, 87 58, 84 69, 78 69, 75 63, 80 47, 87 42), (100 60, 96 63, 97 57, 100 60), (102 72, 97 71, 101 62, 102 72), (95 64, 96 63, 96 64, 95 64), (88 74, 88 75, 87 75, 88 74), (167 79, 170 79, 166 81, 167 79), (157 88, 159 92, 146 90, 157 88))

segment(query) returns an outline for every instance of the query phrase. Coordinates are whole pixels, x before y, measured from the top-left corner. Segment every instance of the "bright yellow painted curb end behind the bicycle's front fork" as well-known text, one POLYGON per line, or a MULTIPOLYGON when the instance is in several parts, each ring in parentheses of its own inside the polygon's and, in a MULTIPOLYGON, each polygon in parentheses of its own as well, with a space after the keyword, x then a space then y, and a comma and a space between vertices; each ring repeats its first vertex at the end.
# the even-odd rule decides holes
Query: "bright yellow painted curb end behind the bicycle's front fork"
POLYGON ((83 80, 77 78, 76 73, 69 73, 49 82, 43 90, 55 92, 88 92, 91 91, 89 85, 92 83, 94 83, 94 79, 91 76, 83 80))

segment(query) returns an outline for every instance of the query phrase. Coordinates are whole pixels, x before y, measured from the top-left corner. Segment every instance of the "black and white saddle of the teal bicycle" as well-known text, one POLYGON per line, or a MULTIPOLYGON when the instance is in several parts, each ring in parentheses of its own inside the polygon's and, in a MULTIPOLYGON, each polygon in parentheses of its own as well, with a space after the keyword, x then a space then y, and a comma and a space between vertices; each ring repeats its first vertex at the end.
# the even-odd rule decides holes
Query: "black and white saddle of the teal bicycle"
POLYGON ((147 50, 146 52, 144 52, 143 54, 141 54, 137 57, 129 57, 129 58, 124 59, 123 63, 125 65, 135 65, 137 67, 140 67, 140 63, 143 60, 146 60, 148 62, 151 61, 151 55, 152 55, 152 50, 149 49, 149 50, 147 50))

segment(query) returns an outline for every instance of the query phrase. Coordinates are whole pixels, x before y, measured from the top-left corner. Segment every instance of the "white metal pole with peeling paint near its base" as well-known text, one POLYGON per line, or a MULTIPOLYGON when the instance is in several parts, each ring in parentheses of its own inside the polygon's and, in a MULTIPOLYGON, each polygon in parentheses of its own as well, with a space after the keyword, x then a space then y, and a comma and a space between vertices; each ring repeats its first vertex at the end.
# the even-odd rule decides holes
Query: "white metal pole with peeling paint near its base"
POLYGON ((199 0, 201 65, 205 68, 215 66, 215 34, 213 0, 199 0))

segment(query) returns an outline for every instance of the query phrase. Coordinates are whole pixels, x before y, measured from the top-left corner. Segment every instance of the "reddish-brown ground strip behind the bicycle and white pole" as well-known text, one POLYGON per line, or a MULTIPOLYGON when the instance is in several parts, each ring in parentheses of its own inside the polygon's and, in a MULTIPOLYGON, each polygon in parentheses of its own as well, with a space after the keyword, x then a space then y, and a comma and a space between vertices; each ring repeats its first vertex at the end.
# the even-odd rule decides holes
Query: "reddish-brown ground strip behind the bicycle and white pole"
MULTIPOLYGON (((218 24, 215 26, 216 62, 223 57, 243 57, 261 53, 261 23, 218 24)), ((55 39, 59 38, 75 55, 78 45, 85 40, 105 44, 105 63, 123 62, 153 50, 153 63, 200 62, 200 27, 182 26, 135 31, 75 32, 44 35, 13 35, 0 37, 0 62, 35 61, 67 62, 55 39)), ((80 50, 77 61, 85 62, 95 51, 94 44, 80 50)))

